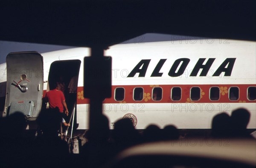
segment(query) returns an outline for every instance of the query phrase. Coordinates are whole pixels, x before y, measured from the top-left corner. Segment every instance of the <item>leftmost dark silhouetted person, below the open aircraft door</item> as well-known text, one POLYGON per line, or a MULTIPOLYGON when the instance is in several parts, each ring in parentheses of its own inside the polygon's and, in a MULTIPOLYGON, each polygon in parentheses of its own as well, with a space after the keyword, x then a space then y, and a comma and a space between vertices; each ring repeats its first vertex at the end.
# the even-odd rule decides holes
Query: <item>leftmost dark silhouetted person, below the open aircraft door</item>
POLYGON ((0 167, 32 167, 26 158, 33 156, 32 139, 25 135, 26 119, 15 112, 0 119, 0 167))

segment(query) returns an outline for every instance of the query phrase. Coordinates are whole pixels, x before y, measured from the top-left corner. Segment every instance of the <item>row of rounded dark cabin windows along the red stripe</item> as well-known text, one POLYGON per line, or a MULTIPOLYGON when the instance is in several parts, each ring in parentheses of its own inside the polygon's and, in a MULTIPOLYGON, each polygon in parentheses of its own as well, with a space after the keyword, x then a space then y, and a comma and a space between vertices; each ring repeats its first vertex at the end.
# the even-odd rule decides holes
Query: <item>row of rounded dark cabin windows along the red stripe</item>
MULTIPOLYGON (((218 101, 220 99, 220 88, 211 87, 210 90, 210 100, 218 101)), ((142 87, 135 87, 133 92, 133 98, 135 101, 143 100, 144 90, 142 87)), ((230 87, 228 92, 228 97, 231 101, 236 101, 239 99, 239 87, 230 87)), ((163 89, 161 87, 154 87, 152 90, 152 97, 154 101, 160 101, 163 98, 163 89)), ((173 101, 179 101, 181 99, 181 88, 172 87, 171 98, 173 101)), ((190 89, 190 99, 192 101, 198 101, 201 98, 200 87, 192 87, 190 89)), ((256 100, 256 87, 247 88, 247 98, 251 101, 256 100)), ((123 87, 117 87, 115 90, 115 100, 123 101, 125 99, 125 89, 123 87)))

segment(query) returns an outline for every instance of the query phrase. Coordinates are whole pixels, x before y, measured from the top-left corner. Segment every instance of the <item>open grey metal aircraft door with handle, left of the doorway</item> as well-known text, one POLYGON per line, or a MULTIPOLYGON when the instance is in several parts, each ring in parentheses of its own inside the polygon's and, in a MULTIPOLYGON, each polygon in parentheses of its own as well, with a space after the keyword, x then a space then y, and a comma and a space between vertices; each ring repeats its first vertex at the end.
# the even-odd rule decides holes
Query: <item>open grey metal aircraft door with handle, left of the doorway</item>
POLYGON ((38 52, 11 52, 6 57, 7 86, 3 117, 17 111, 35 120, 43 96, 43 57, 38 52))

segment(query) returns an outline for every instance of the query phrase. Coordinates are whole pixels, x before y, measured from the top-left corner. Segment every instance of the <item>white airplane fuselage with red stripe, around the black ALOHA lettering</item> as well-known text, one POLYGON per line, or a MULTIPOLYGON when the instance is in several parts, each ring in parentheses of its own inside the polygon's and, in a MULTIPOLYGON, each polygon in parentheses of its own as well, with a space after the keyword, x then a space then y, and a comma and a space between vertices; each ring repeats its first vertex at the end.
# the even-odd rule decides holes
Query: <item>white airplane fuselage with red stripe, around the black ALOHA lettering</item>
MULTIPOLYGON (((48 81, 49 69, 53 61, 81 60, 77 123, 79 123, 78 129, 88 129, 89 101, 83 97, 82 87, 83 58, 90 56, 90 49, 81 47, 41 55, 44 58, 44 81, 48 81)), ((225 111, 230 114, 239 107, 250 111, 250 123, 247 128, 256 128, 256 100, 248 99, 247 93, 248 87, 256 87, 255 42, 201 39, 193 42, 118 44, 106 50, 105 56, 112 57, 112 97, 106 98, 103 102, 103 113, 110 120, 112 129, 114 122, 123 117, 133 119, 137 129, 144 129, 149 124, 160 127, 173 124, 179 129, 209 129, 212 118, 217 113, 225 111), (184 64, 184 60, 179 62, 181 58, 186 58, 188 63, 184 64), (191 75, 198 61, 202 59, 204 59, 203 65, 209 60, 213 61, 208 64, 209 70, 200 75, 204 71, 200 68, 196 74, 191 75), (182 68, 185 70, 182 71, 182 68), (170 72, 172 69, 173 73, 170 72), (216 72, 218 69, 227 72, 218 73, 216 72), (122 101, 115 99, 116 87, 124 88, 122 101), (136 87, 143 88, 143 99, 140 101, 134 100, 136 87), (155 101, 152 97, 154 87, 162 89, 159 101, 155 101), (178 101, 171 98, 173 87, 180 87, 181 98, 178 101), (199 100, 191 99, 192 87, 201 89, 199 100), (210 99, 211 87, 220 88, 218 100, 210 99), (239 88, 239 98, 235 101, 230 100, 229 97, 231 87, 239 88)), ((5 64, 1 64, 1 70, 5 69, 4 66, 5 64)), ((6 75, 2 72, 0 80, 0 82, 6 81, 6 75)), ((44 83, 44 90, 47 90, 47 82, 44 83)))

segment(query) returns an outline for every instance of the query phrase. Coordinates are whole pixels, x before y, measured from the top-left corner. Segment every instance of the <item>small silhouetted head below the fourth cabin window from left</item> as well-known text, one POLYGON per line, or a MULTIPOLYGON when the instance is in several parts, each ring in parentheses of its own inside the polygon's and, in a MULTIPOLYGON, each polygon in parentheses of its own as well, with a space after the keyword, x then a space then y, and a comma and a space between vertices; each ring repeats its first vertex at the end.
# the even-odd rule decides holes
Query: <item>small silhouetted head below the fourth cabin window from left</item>
POLYGON ((179 139, 180 134, 174 125, 167 125, 163 128, 163 134, 162 134, 163 140, 175 140, 179 139))

